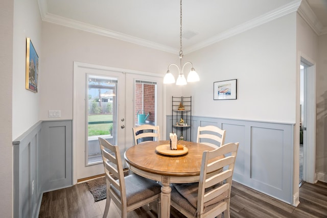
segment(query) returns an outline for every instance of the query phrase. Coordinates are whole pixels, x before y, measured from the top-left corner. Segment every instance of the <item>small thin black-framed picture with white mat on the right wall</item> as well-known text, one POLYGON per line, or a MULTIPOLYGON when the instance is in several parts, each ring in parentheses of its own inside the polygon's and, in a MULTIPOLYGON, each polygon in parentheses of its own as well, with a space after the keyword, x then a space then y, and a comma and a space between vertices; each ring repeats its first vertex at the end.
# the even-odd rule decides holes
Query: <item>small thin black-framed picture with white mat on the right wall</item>
POLYGON ((237 79, 214 82, 214 100, 237 99, 237 79))

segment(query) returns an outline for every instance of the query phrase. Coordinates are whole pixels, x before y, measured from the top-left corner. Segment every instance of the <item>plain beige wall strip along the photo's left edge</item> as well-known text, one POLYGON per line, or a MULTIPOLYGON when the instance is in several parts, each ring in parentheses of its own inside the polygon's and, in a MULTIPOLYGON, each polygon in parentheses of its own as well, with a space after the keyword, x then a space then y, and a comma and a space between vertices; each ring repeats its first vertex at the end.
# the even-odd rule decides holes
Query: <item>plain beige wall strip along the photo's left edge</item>
POLYGON ((12 166, 12 67, 13 67, 14 3, 3 0, 0 7, 0 183, 2 217, 12 217, 13 166, 12 166))

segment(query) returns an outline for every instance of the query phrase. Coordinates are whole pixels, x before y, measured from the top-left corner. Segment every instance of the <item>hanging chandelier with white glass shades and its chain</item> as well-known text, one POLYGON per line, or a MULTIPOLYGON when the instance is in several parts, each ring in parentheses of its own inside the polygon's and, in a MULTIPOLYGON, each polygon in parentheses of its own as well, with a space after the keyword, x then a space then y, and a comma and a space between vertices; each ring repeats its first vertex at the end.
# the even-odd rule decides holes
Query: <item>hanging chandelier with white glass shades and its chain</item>
POLYGON ((184 65, 182 65, 182 58, 183 58, 183 51, 182 51, 182 0, 180 0, 180 34, 179 34, 179 42, 180 42, 180 51, 179 51, 179 59, 180 59, 180 68, 172 63, 169 64, 167 74, 164 77, 164 83, 170 84, 175 83, 175 78, 172 75, 172 73, 169 71, 170 66, 174 65, 178 68, 178 77, 176 81, 176 85, 186 85, 188 82, 196 82, 199 81, 199 75, 193 68, 193 64, 191 62, 186 62, 184 65), (184 67, 186 64, 191 64, 192 68, 188 75, 188 81, 186 82, 185 76, 184 76, 184 67))

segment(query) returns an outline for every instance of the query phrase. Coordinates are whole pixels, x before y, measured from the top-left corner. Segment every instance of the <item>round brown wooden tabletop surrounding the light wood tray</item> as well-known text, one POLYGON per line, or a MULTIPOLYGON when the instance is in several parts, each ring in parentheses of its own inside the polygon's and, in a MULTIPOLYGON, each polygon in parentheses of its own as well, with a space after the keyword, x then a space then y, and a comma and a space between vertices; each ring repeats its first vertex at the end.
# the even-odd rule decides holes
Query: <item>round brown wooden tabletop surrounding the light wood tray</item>
MULTIPOLYGON (((188 153, 180 156, 163 155, 156 152, 156 147, 169 144, 170 141, 145 141, 129 148, 125 152, 127 163, 148 173, 162 176, 198 176, 200 175, 202 153, 212 151, 213 147, 205 144, 178 141, 188 148, 188 153)), ((219 159, 221 157, 217 157, 219 159)))

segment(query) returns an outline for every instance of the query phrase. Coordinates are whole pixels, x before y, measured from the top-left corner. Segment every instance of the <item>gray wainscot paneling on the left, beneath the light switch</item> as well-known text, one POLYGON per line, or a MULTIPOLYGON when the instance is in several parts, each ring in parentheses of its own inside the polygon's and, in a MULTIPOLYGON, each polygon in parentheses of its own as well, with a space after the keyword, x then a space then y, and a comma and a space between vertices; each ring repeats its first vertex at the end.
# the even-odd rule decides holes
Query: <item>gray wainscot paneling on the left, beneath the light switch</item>
POLYGON ((43 192, 73 185, 72 120, 38 122, 13 141, 13 217, 38 217, 43 192))

